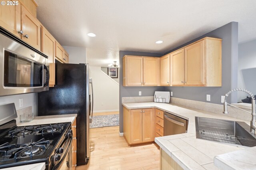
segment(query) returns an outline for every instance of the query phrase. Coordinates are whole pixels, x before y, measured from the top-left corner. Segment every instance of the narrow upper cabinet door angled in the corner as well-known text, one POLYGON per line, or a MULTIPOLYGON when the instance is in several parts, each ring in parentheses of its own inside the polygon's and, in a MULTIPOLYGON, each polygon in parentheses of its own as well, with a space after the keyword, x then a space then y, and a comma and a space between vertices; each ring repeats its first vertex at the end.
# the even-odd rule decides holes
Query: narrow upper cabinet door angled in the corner
POLYGON ((170 55, 160 58, 160 85, 170 85, 170 55))

